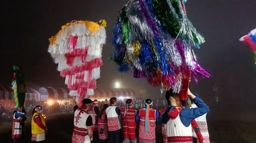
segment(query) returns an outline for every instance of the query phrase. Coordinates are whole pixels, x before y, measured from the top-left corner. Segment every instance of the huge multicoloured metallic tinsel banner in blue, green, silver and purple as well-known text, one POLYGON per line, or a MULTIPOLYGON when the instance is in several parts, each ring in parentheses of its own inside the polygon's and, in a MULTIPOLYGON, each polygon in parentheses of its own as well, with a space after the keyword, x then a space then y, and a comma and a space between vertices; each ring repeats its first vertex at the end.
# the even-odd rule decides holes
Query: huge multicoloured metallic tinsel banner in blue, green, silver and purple
POLYGON ((186 17, 183 2, 129 0, 120 9, 111 57, 119 72, 132 71, 134 78, 146 78, 160 90, 173 88, 177 93, 187 76, 196 82, 210 76, 192 50, 205 40, 186 17))

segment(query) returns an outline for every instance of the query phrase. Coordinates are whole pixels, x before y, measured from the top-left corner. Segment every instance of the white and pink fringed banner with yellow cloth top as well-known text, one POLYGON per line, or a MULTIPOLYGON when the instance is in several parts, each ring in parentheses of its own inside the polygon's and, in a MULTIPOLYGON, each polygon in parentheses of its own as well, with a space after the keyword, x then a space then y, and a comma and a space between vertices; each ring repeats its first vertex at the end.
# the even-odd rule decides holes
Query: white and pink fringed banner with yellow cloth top
POLYGON ((94 95, 96 79, 100 78, 105 26, 105 20, 72 21, 49 39, 48 52, 58 64, 60 75, 66 78, 69 95, 76 96, 80 104, 84 98, 94 95))

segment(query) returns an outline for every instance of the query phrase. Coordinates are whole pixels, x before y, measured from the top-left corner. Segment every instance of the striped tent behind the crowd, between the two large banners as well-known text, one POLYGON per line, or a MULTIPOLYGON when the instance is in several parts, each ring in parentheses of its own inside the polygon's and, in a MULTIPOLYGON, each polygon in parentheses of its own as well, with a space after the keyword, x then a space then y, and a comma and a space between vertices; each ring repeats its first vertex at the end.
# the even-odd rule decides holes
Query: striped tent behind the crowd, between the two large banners
POLYGON ((135 91, 131 88, 97 88, 94 90, 95 94, 91 99, 109 99, 111 97, 116 98, 135 98, 135 91))

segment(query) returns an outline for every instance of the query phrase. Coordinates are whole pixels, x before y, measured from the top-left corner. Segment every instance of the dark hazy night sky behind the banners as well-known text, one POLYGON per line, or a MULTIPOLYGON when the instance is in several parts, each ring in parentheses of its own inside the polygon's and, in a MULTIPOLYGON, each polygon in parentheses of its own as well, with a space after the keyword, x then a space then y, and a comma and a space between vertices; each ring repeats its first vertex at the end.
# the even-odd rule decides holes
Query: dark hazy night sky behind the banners
MULTIPOLYGON (((108 61, 114 51, 111 44, 113 27, 119 9, 128 0, 1 0, 0 1, 0 82, 11 83, 12 65, 23 70, 26 85, 40 87, 66 87, 65 78, 59 76, 57 64, 47 52, 48 39, 61 25, 71 20, 100 19, 107 21, 108 39, 103 47, 101 79, 98 87, 134 89, 138 95, 147 89, 151 98, 160 95, 157 88, 145 79, 134 79, 131 73, 119 73, 117 66, 108 61)), ((239 41, 256 28, 256 0, 188 0, 187 16, 206 39, 201 49, 195 49, 198 62, 211 72, 209 79, 191 83, 206 100, 212 100, 212 86, 218 85, 220 100, 245 101, 256 99, 256 65, 250 48, 239 41)), ((252 104, 254 101, 247 103, 252 104)))

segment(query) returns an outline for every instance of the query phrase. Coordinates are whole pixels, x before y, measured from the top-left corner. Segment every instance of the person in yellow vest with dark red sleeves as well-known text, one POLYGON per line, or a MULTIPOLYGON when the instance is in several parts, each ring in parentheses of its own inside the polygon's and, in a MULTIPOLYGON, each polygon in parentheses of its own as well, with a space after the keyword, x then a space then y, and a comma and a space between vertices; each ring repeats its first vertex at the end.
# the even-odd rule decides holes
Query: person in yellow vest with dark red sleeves
POLYGON ((33 117, 31 122, 32 129, 32 141, 40 142, 45 140, 45 132, 47 132, 47 126, 45 124, 44 117, 41 115, 43 108, 38 105, 33 109, 33 117))

